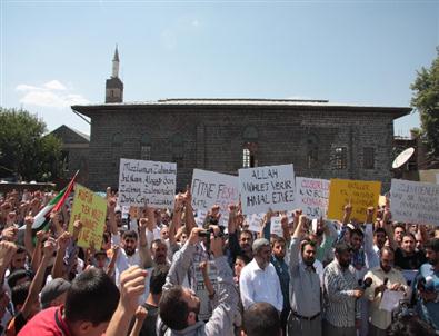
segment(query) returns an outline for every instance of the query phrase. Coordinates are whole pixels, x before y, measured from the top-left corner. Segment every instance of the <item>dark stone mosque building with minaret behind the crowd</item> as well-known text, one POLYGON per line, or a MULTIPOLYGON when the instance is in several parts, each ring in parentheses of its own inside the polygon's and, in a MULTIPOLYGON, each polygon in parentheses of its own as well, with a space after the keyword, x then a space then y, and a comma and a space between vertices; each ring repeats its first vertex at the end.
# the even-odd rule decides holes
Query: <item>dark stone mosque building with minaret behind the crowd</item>
POLYGON ((295 99, 162 99, 124 102, 119 52, 106 102, 72 106, 91 119, 88 187, 118 187, 119 159, 177 162, 178 189, 192 169, 293 164, 297 176, 381 180, 390 186, 393 120, 408 107, 295 99))

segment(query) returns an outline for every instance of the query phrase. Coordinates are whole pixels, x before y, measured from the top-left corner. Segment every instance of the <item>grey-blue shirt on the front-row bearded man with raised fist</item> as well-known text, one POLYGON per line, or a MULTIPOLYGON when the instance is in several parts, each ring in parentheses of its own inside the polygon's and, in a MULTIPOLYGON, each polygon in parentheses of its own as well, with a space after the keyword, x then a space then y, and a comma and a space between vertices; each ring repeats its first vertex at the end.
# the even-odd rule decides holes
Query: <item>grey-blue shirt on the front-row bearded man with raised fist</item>
POLYGON ((315 316, 321 312, 319 275, 313 266, 307 266, 300 260, 300 239, 292 238, 290 249, 291 309, 301 316, 315 316))

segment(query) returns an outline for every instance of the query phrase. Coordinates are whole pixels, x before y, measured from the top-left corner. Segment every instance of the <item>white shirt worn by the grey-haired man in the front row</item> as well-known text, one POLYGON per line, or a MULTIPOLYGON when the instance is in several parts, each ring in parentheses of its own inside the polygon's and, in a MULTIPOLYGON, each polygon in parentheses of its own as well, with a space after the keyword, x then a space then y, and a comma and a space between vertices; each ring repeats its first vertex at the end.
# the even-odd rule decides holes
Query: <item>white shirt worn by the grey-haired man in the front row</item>
POLYGON ((282 310, 283 297, 279 277, 270 263, 265 269, 255 259, 246 265, 239 278, 239 288, 245 309, 255 303, 268 303, 279 312, 282 310))

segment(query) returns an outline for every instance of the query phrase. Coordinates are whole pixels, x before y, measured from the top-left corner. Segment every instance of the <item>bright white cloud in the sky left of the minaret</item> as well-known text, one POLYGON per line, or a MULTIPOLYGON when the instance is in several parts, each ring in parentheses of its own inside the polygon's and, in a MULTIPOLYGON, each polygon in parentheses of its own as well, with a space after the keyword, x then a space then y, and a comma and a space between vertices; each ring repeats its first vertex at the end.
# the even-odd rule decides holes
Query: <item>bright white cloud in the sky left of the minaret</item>
POLYGON ((71 90, 68 90, 64 85, 56 79, 46 82, 41 87, 26 83, 18 85, 16 90, 26 92, 20 99, 20 102, 24 105, 62 109, 72 105, 89 103, 89 100, 87 100, 84 97, 71 92, 71 90))

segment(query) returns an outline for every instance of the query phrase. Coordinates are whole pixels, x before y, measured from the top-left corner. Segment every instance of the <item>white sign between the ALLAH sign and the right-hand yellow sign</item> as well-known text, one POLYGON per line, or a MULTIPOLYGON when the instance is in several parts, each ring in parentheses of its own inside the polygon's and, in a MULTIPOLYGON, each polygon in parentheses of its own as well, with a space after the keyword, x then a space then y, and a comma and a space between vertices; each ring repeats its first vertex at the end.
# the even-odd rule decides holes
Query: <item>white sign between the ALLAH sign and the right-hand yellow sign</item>
POLYGON ((296 177, 296 206, 310 218, 326 218, 329 200, 329 180, 296 177))

